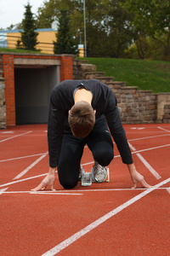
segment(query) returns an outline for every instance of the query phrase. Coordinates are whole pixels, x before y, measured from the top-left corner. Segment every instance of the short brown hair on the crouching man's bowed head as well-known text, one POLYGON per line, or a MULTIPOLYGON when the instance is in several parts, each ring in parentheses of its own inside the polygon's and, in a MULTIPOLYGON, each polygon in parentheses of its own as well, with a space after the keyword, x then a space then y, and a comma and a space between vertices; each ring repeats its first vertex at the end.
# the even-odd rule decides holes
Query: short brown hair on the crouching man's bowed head
POLYGON ((77 102, 70 110, 68 122, 75 137, 87 137, 94 128, 94 109, 88 102, 77 102))

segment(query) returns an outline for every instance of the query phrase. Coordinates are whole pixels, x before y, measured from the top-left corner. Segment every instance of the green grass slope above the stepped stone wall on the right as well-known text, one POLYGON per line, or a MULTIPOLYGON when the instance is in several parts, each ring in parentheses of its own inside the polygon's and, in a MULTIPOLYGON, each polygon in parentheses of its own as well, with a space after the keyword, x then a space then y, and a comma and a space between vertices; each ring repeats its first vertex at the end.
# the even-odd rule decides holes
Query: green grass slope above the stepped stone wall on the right
POLYGON ((153 93, 170 92, 170 62, 143 61, 111 58, 78 58, 97 66, 97 71, 115 81, 124 81, 127 86, 138 86, 139 90, 153 93))

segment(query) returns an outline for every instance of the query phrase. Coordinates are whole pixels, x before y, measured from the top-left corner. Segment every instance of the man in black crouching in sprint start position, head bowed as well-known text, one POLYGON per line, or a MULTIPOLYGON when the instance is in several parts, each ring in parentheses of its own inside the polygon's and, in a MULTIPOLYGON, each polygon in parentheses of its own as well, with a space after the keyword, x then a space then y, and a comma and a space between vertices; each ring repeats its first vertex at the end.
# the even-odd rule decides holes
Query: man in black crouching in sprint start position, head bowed
POLYGON ((94 157, 94 181, 103 182, 106 166, 114 158, 111 137, 122 162, 127 165, 133 188, 137 183, 150 188, 133 164, 111 88, 97 79, 65 80, 57 84, 50 96, 48 113, 49 171, 42 183, 32 190, 42 190, 48 185, 53 190, 56 168, 59 183, 65 189, 73 189, 81 177, 81 159, 86 144, 94 157))

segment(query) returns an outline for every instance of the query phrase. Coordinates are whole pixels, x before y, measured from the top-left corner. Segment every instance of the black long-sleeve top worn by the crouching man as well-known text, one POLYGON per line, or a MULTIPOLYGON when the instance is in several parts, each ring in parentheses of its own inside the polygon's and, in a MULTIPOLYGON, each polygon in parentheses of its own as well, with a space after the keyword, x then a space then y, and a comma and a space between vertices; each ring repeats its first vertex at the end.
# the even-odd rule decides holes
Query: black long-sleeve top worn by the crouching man
POLYGON ((92 107, 96 110, 95 123, 105 120, 111 131, 124 164, 132 164, 132 154, 116 104, 116 96, 111 88, 96 79, 65 80, 54 87, 50 96, 48 114, 48 154, 49 166, 56 167, 64 133, 71 133, 68 112, 74 105, 74 93, 79 87, 93 94, 92 107))

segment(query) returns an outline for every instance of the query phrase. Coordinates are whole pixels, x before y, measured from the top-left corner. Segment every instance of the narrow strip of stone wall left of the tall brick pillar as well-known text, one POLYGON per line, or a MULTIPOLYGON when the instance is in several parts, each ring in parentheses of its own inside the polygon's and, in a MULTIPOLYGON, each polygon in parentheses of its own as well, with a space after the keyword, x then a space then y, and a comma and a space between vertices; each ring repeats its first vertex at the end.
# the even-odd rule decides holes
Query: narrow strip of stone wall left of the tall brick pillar
POLYGON ((5 82, 3 79, 3 65, 0 55, 0 129, 6 128, 5 82))

